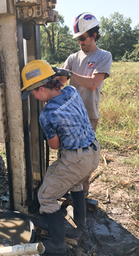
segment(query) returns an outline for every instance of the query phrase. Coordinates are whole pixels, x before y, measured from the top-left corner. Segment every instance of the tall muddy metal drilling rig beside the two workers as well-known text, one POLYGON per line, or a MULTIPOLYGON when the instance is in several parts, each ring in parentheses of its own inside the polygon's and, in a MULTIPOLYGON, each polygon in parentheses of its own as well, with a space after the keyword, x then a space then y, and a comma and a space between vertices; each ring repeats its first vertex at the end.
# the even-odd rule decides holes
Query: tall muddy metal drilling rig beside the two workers
POLYGON ((34 211, 46 170, 38 122, 42 103, 33 97, 22 102, 21 70, 41 59, 40 25, 58 21, 55 7, 56 0, 0 2, 0 143, 6 148, 10 209, 23 213, 34 211))

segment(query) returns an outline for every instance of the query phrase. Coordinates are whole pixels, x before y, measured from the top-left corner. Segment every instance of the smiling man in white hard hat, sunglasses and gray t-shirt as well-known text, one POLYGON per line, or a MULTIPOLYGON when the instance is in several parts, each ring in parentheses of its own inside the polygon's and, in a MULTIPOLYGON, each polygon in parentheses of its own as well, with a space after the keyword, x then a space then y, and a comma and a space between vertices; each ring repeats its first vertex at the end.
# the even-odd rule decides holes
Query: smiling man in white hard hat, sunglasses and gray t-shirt
MULTIPOLYGON (((70 78, 70 85, 79 91, 93 130, 96 132, 99 121, 100 92, 105 78, 109 77, 112 55, 98 49, 99 21, 92 13, 81 13, 73 23, 73 39, 79 40, 81 50, 71 54, 62 68, 54 68, 62 84, 70 78)), ((85 194, 89 190, 89 177, 83 182, 85 194)))

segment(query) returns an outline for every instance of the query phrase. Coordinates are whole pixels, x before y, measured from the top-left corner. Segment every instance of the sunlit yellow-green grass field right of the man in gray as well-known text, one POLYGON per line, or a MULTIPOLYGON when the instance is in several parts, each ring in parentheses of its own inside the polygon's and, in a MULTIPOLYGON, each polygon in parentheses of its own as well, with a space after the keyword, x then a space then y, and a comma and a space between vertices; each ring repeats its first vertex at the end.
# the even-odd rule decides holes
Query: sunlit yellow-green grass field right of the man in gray
POLYGON ((132 148, 138 156, 139 63, 113 63, 101 92, 96 132, 101 148, 132 148))

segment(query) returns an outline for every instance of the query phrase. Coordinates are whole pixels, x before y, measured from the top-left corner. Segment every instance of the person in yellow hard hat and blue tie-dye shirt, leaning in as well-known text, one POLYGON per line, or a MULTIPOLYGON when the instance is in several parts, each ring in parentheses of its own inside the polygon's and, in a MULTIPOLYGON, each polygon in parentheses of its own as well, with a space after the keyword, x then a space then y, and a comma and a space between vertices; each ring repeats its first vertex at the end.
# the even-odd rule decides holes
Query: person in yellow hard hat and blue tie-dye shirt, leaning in
POLYGON ((72 218, 79 229, 85 228, 86 207, 82 182, 99 164, 100 145, 89 121, 79 92, 54 79, 54 70, 36 60, 22 71, 22 98, 30 94, 46 105, 40 113, 40 125, 58 160, 47 169, 38 191, 40 213, 46 218, 50 240, 44 241, 45 253, 66 253, 65 229, 58 198, 71 192, 72 218))

